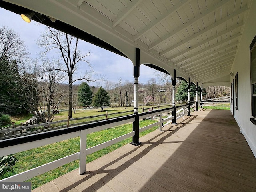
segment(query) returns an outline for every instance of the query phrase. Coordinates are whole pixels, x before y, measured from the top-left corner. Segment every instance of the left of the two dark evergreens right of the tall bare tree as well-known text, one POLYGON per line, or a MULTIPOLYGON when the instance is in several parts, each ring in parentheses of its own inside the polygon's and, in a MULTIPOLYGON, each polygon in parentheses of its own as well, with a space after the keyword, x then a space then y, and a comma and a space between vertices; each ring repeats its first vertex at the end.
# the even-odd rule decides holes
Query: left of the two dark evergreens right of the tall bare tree
POLYGON ((92 104, 92 90, 86 82, 82 82, 78 87, 78 100, 83 107, 92 104))

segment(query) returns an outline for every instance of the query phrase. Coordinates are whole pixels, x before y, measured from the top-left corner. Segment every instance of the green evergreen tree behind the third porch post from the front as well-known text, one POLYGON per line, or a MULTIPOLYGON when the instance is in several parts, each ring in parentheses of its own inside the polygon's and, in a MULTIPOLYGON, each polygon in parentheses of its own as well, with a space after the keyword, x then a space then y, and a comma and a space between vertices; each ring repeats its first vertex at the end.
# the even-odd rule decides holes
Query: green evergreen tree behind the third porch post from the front
MULTIPOLYGON (((190 101, 194 101, 196 97, 196 86, 190 84, 190 101)), ((187 101, 188 100, 188 83, 186 81, 181 81, 180 85, 176 89, 175 99, 177 101, 187 101)))

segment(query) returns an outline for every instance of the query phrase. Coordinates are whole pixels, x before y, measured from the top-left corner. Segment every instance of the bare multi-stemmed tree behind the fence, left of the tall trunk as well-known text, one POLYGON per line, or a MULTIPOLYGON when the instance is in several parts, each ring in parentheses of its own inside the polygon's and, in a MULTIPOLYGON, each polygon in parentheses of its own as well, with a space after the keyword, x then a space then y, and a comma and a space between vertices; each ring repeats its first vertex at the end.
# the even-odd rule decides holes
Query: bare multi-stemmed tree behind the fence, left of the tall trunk
POLYGON ((16 91, 22 100, 22 108, 31 112, 44 123, 51 122, 58 106, 65 96, 65 90, 59 88, 63 81, 61 71, 52 70, 54 63, 44 60, 28 61, 19 65, 19 78, 16 79, 16 91))

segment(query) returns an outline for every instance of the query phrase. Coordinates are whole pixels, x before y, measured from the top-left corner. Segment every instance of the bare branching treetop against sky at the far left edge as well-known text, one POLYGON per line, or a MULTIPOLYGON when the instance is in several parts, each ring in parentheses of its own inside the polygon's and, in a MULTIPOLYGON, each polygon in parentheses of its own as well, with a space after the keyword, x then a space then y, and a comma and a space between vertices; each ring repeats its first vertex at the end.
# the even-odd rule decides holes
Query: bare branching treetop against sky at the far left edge
POLYGON ((28 54, 27 47, 20 40, 20 36, 14 30, 8 29, 6 26, 0 27, 0 61, 20 60, 28 54))

